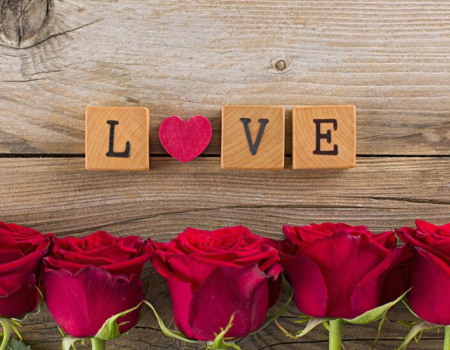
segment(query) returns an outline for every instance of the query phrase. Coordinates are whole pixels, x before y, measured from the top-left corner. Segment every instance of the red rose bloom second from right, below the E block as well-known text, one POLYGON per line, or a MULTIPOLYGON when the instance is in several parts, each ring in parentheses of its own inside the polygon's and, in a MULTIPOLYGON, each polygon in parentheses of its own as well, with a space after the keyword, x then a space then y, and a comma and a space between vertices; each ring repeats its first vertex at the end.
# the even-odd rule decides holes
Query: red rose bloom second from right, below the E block
POLYGON ((392 231, 375 234, 343 223, 284 226, 281 258, 294 302, 308 316, 355 318, 406 290, 392 231))

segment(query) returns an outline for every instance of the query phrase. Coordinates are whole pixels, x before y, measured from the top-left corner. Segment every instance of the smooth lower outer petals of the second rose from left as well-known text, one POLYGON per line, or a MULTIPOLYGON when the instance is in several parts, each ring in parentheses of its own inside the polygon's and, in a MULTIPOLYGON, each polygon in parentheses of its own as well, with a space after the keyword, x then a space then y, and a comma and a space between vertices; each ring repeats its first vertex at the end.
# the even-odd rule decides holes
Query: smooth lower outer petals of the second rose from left
MULTIPOLYGON (((78 338, 94 336, 108 318, 135 307, 144 297, 137 275, 127 279, 95 267, 86 267, 76 274, 47 269, 44 291, 55 321, 67 334, 78 338)), ((138 318, 139 309, 119 318, 118 324, 127 322, 120 332, 134 327, 138 318)))

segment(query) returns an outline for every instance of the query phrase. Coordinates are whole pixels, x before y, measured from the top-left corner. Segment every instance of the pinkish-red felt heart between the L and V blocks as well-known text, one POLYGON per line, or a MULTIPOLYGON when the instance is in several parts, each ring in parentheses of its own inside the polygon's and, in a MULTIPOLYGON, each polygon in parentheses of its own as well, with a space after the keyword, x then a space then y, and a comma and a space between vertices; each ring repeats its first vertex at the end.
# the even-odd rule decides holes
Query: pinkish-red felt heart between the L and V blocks
POLYGON ((201 115, 188 121, 176 116, 168 117, 159 126, 162 146, 167 153, 183 163, 197 158, 209 145, 211 136, 211 122, 201 115))

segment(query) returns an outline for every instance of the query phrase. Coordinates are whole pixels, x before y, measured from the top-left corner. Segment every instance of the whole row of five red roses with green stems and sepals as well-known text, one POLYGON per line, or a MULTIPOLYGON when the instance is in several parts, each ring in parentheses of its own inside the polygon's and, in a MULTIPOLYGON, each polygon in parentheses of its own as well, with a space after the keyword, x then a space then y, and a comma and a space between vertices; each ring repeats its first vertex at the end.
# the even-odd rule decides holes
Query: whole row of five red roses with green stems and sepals
MULTIPOLYGON (((282 289, 283 268, 290 297, 309 318, 296 335, 279 325, 288 336, 301 337, 323 323, 330 349, 340 349, 344 321, 384 320, 405 293, 412 311, 429 322, 415 325, 411 335, 449 325, 450 224, 416 226, 397 230, 406 243, 397 247, 393 231, 374 234, 343 223, 284 226, 284 241, 242 226, 188 228, 169 243, 106 232, 56 238, 0 223, 0 350, 14 322, 39 309, 41 291, 68 335, 65 348, 90 338, 94 349, 103 349, 105 341, 137 324, 146 302, 140 275, 148 260, 167 280, 180 331, 168 330, 156 314, 164 333, 207 342, 209 349, 239 348, 233 339, 266 325, 282 289)), ((406 345, 407 340, 400 348, 406 345)))

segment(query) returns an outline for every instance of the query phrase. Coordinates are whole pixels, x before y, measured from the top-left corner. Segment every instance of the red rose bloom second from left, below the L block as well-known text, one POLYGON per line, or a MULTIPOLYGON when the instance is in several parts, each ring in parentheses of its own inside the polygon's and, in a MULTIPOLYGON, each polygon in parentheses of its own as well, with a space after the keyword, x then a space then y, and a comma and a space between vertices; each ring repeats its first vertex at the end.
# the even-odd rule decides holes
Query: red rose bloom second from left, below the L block
MULTIPOLYGON (((57 238, 44 259, 45 302, 69 335, 93 337, 110 317, 144 299, 140 275, 149 259, 140 237, 95 232, 84 238, 57 238)), ((133 328, 137 309, 117 320, 120 333, 133 328)))

